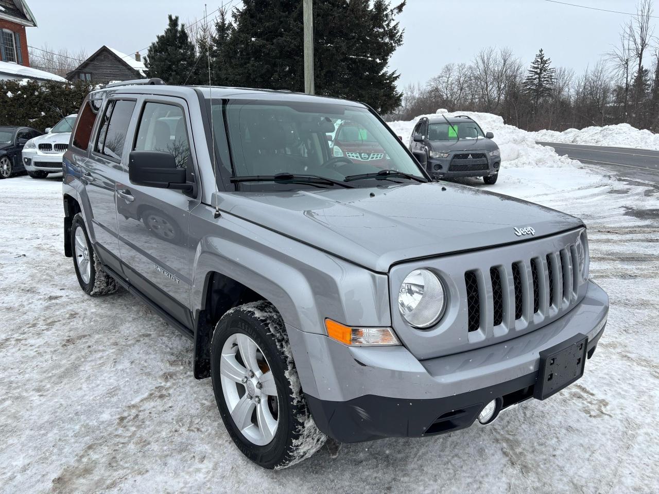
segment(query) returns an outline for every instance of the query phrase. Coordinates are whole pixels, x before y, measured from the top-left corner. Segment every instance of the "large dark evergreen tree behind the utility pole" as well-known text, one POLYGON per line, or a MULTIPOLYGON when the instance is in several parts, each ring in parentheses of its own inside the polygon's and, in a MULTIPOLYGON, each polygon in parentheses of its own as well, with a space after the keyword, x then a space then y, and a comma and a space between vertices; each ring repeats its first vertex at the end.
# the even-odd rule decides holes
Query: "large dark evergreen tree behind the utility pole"
MULTIPOLYGON (((314 3, 314 79, 317 94, 356 99, 387 113, 401 102, 399 74, 387 70, 403 42, 395 21, 405 1, 326 0, 314 3)), ((225 24, 223 24, 225 22, 225 24)), ((304 90, 302 2, 244 0, 233 26, 215 26, 214 82, 304 90), (221 62, 220 62, 221 60, 221 62)))

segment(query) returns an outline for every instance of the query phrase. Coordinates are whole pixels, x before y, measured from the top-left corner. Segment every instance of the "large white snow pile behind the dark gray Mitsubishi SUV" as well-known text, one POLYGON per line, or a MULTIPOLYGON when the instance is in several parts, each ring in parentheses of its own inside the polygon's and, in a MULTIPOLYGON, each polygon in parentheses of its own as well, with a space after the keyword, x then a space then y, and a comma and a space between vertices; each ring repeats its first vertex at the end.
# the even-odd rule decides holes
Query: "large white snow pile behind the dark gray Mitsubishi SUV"
MULTIPOLYGON (((441 111, 438 110, 438 112, 441 111)), ((505 168, 526 167, 581 167, 581 164, 565 156, 559 156, 552 148, 536 144, 536 138, 532 132, 527 132, 513 125, 503 123, 503 118, 492 113, 479 113, 475 111, 454 111, 444 113, 446 117, 457 117, 467 115, 480 125, 483 132, 492 132, 494 142, 501 150, 501 161, 505 168)), ((389 127, 403 138, 407 144, 411 138, 412 131, 421 117, 436 118, 437 115, 420 115, 412 121, 389 122, 389 127)))

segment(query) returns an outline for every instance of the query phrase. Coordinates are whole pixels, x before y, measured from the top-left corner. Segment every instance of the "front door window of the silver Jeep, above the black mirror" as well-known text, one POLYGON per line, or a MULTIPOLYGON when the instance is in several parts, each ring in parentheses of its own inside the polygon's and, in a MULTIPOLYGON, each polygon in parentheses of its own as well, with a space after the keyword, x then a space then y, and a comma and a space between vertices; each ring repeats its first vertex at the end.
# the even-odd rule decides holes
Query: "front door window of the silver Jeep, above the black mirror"
POLYGON ((183 109, 167 103, 146 103, 134 151, 170 153, 177 167, 187 168, 190 165, 190 142, 183 109))

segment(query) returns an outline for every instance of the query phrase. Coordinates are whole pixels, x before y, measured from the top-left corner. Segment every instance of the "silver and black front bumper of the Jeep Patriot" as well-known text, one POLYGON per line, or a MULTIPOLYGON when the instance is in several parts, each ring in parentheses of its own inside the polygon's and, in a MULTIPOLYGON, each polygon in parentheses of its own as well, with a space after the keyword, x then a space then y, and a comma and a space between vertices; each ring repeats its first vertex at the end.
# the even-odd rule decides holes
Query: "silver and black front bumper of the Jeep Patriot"
POLYGON ((545 327, 428 360, 416 360, 402 346, 349 348, 297 330, 291 337, 290 329, 289 338, 296 364, 301 360, 299 371, 308 366, 314 373, 315 386, 306 386, 304 379, 302 385, 316 425, 337 441, 352 443, 454 431, 473 424, 494 398, 502 397, 504 408, 526 400, 533 396, 540 352, 583 333, 590 358, 607 317, 608 297, 589 281, 585 298, 545 327), (299 333, 308 344, 306 361, 297 358, 299 333), (325 340, 324 348, 318 339, 325 340))

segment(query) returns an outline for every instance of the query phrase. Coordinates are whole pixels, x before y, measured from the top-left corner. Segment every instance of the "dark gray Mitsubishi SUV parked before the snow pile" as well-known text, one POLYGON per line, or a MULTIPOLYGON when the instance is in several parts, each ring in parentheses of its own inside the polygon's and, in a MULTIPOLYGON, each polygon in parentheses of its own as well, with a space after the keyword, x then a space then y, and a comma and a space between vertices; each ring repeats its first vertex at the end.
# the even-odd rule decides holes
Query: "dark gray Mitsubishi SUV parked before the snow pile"
POLYGON ((426 153, 426 170, 436 178, 483 177, 496 183, 501 152, 494 134, 483 134, 467 115, 422 117, 410 137, 410 150, 426 153))

